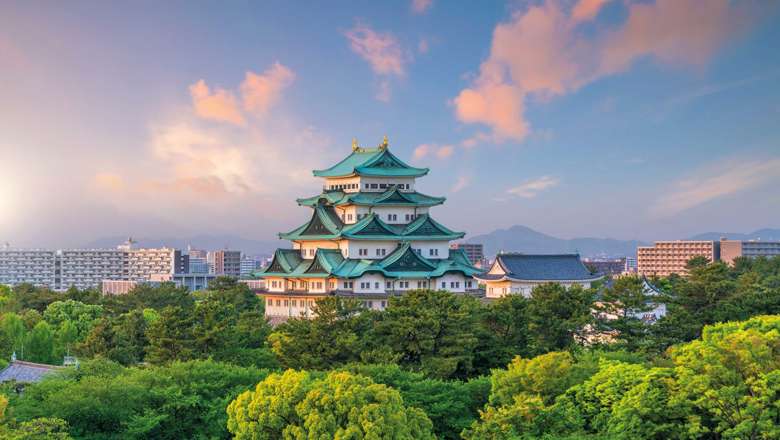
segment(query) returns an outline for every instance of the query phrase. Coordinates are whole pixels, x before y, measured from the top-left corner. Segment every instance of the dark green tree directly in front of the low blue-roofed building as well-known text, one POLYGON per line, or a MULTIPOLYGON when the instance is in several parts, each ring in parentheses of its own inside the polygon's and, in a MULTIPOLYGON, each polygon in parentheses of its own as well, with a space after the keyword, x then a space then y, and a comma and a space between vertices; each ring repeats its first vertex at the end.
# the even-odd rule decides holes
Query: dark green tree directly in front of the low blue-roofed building
POLYGON ((534 353, 564 350, 592 320, 593 292, 579 285, 542 284, 531 292, 527 314, 534 353))

